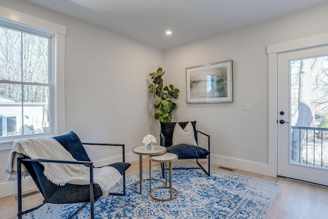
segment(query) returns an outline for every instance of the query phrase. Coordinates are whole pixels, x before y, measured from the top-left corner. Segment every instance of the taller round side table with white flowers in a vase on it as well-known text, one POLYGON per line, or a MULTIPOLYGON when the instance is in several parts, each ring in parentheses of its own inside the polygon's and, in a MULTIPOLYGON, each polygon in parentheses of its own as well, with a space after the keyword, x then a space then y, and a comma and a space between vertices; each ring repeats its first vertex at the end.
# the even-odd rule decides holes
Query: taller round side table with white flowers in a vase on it
MULTIPOLYGON (((147 146, 147 145, 137 146, 137 147, 134 147, 132 149, 133 154, 139 155, 139 176, 140 176, 140 179, 133 184, 133 190, 135 192, 139 193, 139 194, 142 194, 142 189, 141 189, 142 188, 142 181, 148 181, 149 180, 149 179, 143 179, 142 178, 142 155, 153 156, 153 155, 161 155, 161 154, 164 154, 166 152, 166 147, 163 147, 163 146, 154 145, 154 149, 151 149, 151 150, 146 150, 145 146, 147 146), (135 189, 135 185, 137 183, 139 183, 139 191, 135 189)), ((161 180, 158 180, 158 181, 161 181, 161 180)))

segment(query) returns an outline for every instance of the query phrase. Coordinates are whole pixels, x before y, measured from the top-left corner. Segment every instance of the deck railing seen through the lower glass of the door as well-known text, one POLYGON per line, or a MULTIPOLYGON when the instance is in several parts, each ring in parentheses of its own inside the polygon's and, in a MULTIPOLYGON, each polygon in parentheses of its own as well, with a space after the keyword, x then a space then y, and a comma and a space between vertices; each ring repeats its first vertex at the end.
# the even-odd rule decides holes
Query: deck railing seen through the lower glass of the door
POLYGON ((292 126, 291 133, 292 162, 328 168, 328 128, 292 126))

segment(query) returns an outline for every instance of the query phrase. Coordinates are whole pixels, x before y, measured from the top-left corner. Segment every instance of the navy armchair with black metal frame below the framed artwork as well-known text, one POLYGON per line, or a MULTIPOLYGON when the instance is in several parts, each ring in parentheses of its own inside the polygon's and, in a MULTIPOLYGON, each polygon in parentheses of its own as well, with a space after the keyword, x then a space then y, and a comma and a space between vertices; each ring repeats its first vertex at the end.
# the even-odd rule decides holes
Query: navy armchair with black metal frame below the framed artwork
MULTIPOLYGON (((189 122, 178 122, 180 127, 183 129, 187 126, 189 122)), ((178 159, 196 159, 196 163, 199 167, 193 168, 201 168, 210 176, 210 136, 200 132, 196 129, 196 121, 191 122, 194 130, 194 137, 197 143, 196 145, 187 145, 187 144, 179 144, 173 145, 173 133, 176 122, 160 122, 160 145, 167 147, 167 152, 171 152, 178 156, 178 159), (200 147, 198 145, 198 135, 204 135, 208 139, 207 149, 200 147), (208 159, 208 170, 206 170, 199 162, 198 159, 208 159)), ((163 169, 163 168, 162 168, 163 169)), ((177 169, 177 168, 173 168, 177 169)), ((183 168, 184 169, 184 168, 183 168)), ((187 169, 187 168, 186 168, 187 169)))

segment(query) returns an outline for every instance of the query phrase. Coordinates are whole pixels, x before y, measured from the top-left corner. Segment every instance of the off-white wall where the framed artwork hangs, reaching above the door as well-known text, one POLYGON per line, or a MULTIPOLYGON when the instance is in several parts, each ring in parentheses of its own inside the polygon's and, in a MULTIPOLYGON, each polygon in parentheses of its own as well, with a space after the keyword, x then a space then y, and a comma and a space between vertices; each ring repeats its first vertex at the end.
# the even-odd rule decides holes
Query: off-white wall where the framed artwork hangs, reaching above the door
POLYGON ((277 42, 328 33, 328 4, 165 51, 165 82, 180 89, 175 121, 211 135, 213 163, 269 174, 268 56, 277 42), (233 60, 233 103, 186 103, 186 68, 233 60), (242 111, 250 103, 251 111, 242 111))

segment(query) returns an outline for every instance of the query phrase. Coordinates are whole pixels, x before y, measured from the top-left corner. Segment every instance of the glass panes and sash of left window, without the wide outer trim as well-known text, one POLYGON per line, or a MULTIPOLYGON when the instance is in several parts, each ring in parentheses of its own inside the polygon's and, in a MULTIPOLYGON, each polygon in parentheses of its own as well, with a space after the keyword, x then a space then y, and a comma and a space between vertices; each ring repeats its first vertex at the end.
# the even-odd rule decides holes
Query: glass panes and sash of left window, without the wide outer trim
POLYGON ((0 137, 49 132, 53 34, 7 26, 0 27, 0 137))

